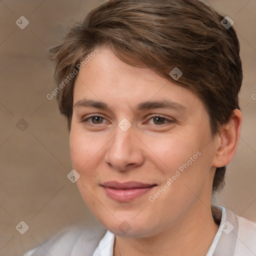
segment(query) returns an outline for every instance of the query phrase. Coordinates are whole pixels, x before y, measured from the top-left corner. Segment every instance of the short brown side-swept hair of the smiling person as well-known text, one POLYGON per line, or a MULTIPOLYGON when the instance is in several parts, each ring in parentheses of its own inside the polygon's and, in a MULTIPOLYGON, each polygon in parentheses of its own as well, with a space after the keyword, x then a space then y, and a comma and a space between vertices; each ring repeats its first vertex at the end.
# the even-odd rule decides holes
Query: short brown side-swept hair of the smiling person
MULTIPOLYGON (((240 47, 235 30, 225 28, 223 19, 199 0, 109 0, 50 49, 56 84, 78 71, 77 64, 93 49, 106 45, 122 61, 150 68, 195 93, 209 114, 214 136, 233 110, 240 109, 240 47), (178 80, 169 75, 174 67, 183 73, 178 80)), ((69 130, 75 77, 57 94, 69 130)), ((224 174, 225 166, 216 168, 213 192, 224 185, 224 174)))

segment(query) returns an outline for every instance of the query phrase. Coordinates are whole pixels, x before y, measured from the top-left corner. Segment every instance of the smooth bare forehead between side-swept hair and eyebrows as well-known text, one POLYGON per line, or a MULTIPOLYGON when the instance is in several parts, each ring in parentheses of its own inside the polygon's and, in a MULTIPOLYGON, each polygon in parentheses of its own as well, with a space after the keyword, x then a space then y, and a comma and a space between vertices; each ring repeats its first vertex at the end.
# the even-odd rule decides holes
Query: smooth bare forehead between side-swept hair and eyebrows
MULTIPOLYGON (((149 68, 131 66, 107 47, 81 67, 74 86, 74 104, 84 98, 104 102, 105 105, 141 108, 145 101, 172 101, 184 108, 201 107, 201 101, 188 89, 161 77, 149 68), (140 106, 138 104, 140 103, 140 106)), ((77 103, 78 104, 78 103, 77 103)))

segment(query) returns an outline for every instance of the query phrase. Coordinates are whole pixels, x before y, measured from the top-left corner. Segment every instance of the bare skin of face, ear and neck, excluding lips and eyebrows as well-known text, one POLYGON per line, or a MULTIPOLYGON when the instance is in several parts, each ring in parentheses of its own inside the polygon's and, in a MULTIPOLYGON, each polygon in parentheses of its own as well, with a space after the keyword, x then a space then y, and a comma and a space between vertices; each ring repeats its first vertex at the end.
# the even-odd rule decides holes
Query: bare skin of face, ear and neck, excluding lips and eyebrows
POLYGON ((150 69, 122 62, 107 47, 79 71, 73 102, 70 153, 80 174, 76 183, 94 216, 115 234, 114 255, 206 255, 218 228, 210 210, 215 167, 226 165, 235 153, 241 112, 234 110, 212 138, 208 113, 196 95, 150 69), (79 105, 84 98, 112 110, 79 105), (184 108, 136 110, 142 101, 163 99, 184 108), (127 131, 118 127, 123 118, 131 123, 127 131), (149 201, 197 151, 201 155, 149 201), (100 185, 112 180, 156 186, 118 202, 100 185), (118 228, 123 221, 130 228, 126 233, 118 228))

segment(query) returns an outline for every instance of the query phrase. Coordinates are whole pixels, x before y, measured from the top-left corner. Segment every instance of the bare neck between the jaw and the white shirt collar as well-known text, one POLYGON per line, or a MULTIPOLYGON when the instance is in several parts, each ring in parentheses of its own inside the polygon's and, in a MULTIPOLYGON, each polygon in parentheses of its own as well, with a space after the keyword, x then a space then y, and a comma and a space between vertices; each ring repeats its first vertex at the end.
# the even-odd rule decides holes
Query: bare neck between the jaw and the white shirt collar
POLYGON ((199 201, 174 225, 154 236, 138 238, 116 235, 113 255, 205 256, 217 229, 210 205, 199 201))

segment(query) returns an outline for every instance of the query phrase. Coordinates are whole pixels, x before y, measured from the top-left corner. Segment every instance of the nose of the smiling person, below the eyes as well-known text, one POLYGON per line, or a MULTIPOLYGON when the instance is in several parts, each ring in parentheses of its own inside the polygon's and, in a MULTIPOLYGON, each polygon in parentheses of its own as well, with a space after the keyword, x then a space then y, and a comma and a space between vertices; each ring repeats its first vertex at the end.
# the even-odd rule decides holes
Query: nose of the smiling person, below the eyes
POLYGON ((105 161, 116 170, 126 171, 144 161, 142 142, 134 134, 132 126, 126 131, 116 126, 115 136, 107 145, 105 161))

